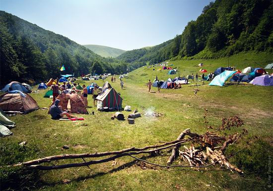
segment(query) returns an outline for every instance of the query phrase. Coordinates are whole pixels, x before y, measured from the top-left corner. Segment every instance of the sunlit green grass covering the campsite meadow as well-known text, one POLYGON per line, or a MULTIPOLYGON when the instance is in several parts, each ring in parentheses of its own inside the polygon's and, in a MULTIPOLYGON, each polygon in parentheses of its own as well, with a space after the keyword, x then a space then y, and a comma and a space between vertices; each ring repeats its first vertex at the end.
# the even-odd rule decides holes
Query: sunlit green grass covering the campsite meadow
MULTIPOLYGON (((269 54, 239 54, 230 57, 230 65, 243 69, 249 65, 254 66, 251 60, 265 66, 272 62, 269 54)), ((227 66, 227 58, 215 60, 175 60, 169 61, 173 67, 179 67, 180 75, 188 75, 199 71, 195 67, 198 63, 204 63, 204 69, 214 71, 220 66, 227 66)), ((161 93, 149 94, 146 83, 153 80, 157 75, 159 79, 166 80, 177 75, 167 75, 167 70, 153 71, 153 68, 142 67, 131 73, 124 79, 125 90, 121 90, 119 82, 111 85, 121 93, 123 106, 131 105, 143 112, 145 108, 154 107, 157 112, 164 113, 164 117, 149 118, 142 116, 136 119, 135 125, 129 125, 127 121, 111 120, 112 112, 98 112, 94 107, 88 108, 95 115, 80 115, 85 121, 54 121, 45 110, 37 110, 27 115, 10 117, 16 122, 16 128, 11 131, 14 135, 1 138, 1 145, 17 144, 27 141, 29 145, 38 145, 39 151, 35 154, 30 152, 31 157, 21 158, 27 160, 56 154, 101 152, 119 150, 131 146, 143 147, 156 144, 159 141, 172 141, 184 129, 191 128, 193 132, 205 133, 203 114, 208 109, 208 121, 210 125, 221 124, 221 118, 238 115, 244 121, 249 136, 259 136, 261 146, 257 149, 266 148, 263 153, 264 161, 255 164, 253 172, 249 172, 248 160, 242 164, 245 176, 229 172, 219 167, 211 167, 206 171, 194 171, 192 169, 162 169, 147 168, 142 170, 136 161, 130 157, 117 159, 116 166, 112 162, 91 165, 87 167, 54 170, 49 172, 39 171, 36 179, 29 176, 29 180, 21 187, 44 190, 265 190, 268 189, 265 163, 269 155, 272 156, 273 137, 273 87, 260 87, 252 85, 226 85, 224 87, 199 86, 198 96, 193 95, 193 87, 183 85, 179 90, 161 90, 161 93), (68 144, 68 150, 61 147, 68 144), (80 145, 80 146, 79 146, 80 145), (260 166, 259 166, 260 165, 260 166), (34 179, 34 180, 33 180, 34 179), (64 179, 71 180, 63 183, 64 179), (35 182, 35 184, 34 184, 35 182), (210 186, 206 186, 210 185, 210 186)), ((273 72, 272 70, 270 71, 273 72)), ((200 73, 199 73, 200 74, 200 73)), ((108 78, 108 81, 110 79, 108 78)), ((91 82, 89 82, 91 83, 91 82)), ((102 85, 101 80, 96 81, 102 85)), ((198 82, 201 83, 201 82, 198 82)), ((81 83, 82 85, 83 83, 81 83)), ((85 85, 88 82, 84 81, 85 85)), ((152 88, 156 92, 156 88, 152 88)), ((38 102, 40 107, 48 107, 51 99, 44 98, 46 91, 39 91, 31 96, 38 102)), ((88 105, 93 106, 91 96, 88 96, 88 105)), ((131 112, 123 111, 125 116, 131 112)), ((241 130, 242 128, 239 128, 241 130)), ((234 132, 234 131, 233 131, 234 132)), ((234 145, 234 149, 240 146, 234 145)), ((36 149, 36 146, 34 146, 36 149)), ((232 148, 233 149, 233 148, 232 148)), ((231 151, 232 151, 231 149, 231 151)), ((256 150, 257 151, 257 150, 256 150)), ((262 152, 261 152, 262 153, 262 152)), ((234 158, 234 164, 239 164, 242 157, 238 154, 234 158), (237 163, 238 162, 238 163, 237 163)), ((255 152, 254 154, 257 154, 255 152)), ((258 153, 259 154, 259 153, 258 153)), ((8 154, 5 154, 8 155, 8 154)), ((7 156, 1 157, 7 157, 7 156)), ((166 164, 170 152, 163 152, 161 156, 149 157, 151 162, 166 164)), ((144 156, 144 155, 143 155, 144 156)), ((250 161, 255 161, 250 157, 250 161)), ((88 160, 88 159, 87 159, 88 160)), ((80 161, 80 160, 78 160, 80 161)), ((16 161, 19 162, 19 161, 16 161)), ((68 161, 61 161, 66 163, 68 161)), ((53 162, 52 164, 60 164, 53 162)), ((2 162, 1 165, 6 162, 2 162)), ((252 163, 251 163, 252 164, 252 163)), ((36 173, 36 172, 35 172, 36 173)), ((14 186, 14 185, 13 185, 14 186)))

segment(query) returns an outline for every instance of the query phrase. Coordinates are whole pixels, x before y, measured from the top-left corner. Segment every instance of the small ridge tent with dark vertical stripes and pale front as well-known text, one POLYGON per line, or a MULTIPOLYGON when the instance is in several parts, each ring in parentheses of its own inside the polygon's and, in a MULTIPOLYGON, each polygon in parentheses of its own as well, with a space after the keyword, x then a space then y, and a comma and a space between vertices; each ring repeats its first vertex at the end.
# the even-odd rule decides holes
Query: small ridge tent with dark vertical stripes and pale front
POLYGON ((100 110, 103 107, 120 110, 122 108, 122 97, 114 88, 106 89, 101 95, 97 96, 97 108, 100 110))

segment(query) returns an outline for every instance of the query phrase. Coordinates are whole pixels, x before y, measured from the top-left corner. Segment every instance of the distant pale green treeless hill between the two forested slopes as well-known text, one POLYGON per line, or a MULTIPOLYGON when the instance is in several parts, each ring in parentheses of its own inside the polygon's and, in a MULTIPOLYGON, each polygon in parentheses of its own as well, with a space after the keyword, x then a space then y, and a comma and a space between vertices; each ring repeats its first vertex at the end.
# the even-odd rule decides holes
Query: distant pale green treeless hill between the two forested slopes
POLYGON ((89 48, 93 52, 103 56, 103 57, 117 57, 121 55, 122 53, 126 52, 126 50, 118 49, 118 48, 112 48, 112 47, 106 47, 101 45, 82 45, 86 48, 89 48))

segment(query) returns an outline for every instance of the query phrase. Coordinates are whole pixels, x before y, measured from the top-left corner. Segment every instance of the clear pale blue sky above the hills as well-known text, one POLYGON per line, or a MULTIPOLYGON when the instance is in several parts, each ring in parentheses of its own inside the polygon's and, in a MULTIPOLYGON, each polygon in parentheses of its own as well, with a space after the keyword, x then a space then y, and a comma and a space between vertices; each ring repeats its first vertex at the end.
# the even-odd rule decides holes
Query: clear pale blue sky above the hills
POLYGON ((182 34, 212 0, 0 0, 0 10, 80 45, 132 50, 182 34))

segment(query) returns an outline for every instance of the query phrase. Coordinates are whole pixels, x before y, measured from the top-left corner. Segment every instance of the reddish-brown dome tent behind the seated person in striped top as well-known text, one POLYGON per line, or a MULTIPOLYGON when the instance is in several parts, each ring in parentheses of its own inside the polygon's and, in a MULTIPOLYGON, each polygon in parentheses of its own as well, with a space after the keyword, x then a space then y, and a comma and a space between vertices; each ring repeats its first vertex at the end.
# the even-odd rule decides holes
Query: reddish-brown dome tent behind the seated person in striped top
MULTIPOLYGON (((71 113, 88 114, 84 100, 75 91, 68 94, 63 92, 56 97, 56 99, 60 100, 59 105, 61 105, 63 109, 68 109, 71 113)), ((54 102, 52 104, 54 104, 54 102)))

